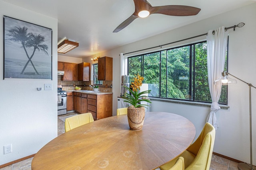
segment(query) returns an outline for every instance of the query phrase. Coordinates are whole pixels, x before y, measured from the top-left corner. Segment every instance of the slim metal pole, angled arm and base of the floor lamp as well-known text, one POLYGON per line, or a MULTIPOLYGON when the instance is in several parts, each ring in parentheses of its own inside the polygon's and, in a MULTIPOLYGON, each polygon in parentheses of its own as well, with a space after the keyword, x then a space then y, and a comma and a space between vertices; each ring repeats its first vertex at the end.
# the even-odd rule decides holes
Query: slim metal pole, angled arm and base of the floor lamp
MULTIPOLYGON (((233 76, 229 72, 226 74, 229 74, 230 76, 233 76)), ((250 166, 247 163, 239 163, 238 169, 239 170, 254 170, 256 169, 255 166, 252 166, 252 95, 251 95, 251 88, 256 88, 252 84, 245 82, 244 80, 241 80, 240 78, 237 78, 236 76, 233 76, 234 78, 246 83, 249 86, 249 113, 250 113, 250 166), (249 169, 250 168, 250 169, 249 169)))

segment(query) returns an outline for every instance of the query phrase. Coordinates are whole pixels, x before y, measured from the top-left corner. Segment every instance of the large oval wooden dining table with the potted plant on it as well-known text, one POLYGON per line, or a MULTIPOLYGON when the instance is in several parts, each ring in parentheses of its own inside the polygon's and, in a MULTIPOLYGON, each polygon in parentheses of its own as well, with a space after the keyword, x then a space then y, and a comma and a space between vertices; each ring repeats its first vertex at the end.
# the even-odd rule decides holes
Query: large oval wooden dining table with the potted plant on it
POLYGON ((32 170, 153 170, 191 145, 191 121, 166 112, 146 112, 132 131, 127 115, 107 117, 72 129, 40 149, 32 170))

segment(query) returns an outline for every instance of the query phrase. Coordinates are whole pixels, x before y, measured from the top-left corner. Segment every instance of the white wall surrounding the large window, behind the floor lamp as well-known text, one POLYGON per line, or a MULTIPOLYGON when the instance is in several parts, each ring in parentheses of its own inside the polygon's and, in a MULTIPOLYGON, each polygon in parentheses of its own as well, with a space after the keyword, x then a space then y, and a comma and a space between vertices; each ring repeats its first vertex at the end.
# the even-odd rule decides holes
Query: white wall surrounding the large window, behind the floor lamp
MULTIPOLYGON (((206 33, 218 27, 230 27, 240 22, 246 25, 229 29, 229 63, 228 71, 245 81, 256 85, 256 3, 227 12, 207 20, 202 20, 190 25, 175 29, 158 36, 137 41, 129 45, 106 51, 98 56, 113 57, 113 115, 116 115, 117 97, 120 96, 120 57, 119 53, 129 53, 148 47, 193 37, 206 33)), ((206 39, 201 37, 199 39, 206 39)), ((195 40, 190 40, 196 41, 195 40)), ((182 42, 182 43, 187 43, 182 42)), ((179 43, 179 44, 182 44, 179 43)), ((177 45, 177 44, 174 44, 177 45)), ((174 46, 173 45, 173 46, 174 46)), ((163 47, 165 48, 165 47, 163 47)), ((94 57, 94 56, 92 56, 94 57)), ((89 57, 89 58, 92 58, 89 57)), ((84 59, 84 61, 89 61, 84 59)), ((221 109, 217 113, 219 129, 216 131, 214 152, 231 158, 250 162, 249 143, 249 100, 248 86, 238 80, 238 84, 228 88, 228 105, 230 109, 221 109)), ((252 119, 256 122, 256 89, 252 89, 252 119)), ((209 107, 173 104, 167 102, 152 102, 151 111, 166 111, 180 114, 192 121, 196 127, 196 137, 200 133, 206 117, 210 112, 209 107)), ((253 123, 253 163, 256 165, 256 124, 253 123)))

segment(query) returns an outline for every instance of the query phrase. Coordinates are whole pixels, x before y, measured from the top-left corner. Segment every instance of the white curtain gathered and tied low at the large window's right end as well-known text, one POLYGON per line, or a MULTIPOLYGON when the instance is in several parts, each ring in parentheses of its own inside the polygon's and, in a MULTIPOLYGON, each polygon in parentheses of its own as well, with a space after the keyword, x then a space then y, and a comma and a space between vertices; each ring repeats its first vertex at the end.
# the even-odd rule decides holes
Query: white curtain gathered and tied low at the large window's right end
POLYGON ((207 68, 208 68, 208 83, 210 88, 210 94, 212 97, 212 104, 210 113, 207 117, 207 122, 211 123, 214 128, 218 128, 218 120, 216 112, 220 109, 218 101, 220 99, 221 84, 214 85, 214 80, 217 80, 221 76, 221 72, 224 70, 225 56, 228 43, 228 31, 225 31, 225 27, 219 27, 217 30, 208 31, 207 41, 207 68))

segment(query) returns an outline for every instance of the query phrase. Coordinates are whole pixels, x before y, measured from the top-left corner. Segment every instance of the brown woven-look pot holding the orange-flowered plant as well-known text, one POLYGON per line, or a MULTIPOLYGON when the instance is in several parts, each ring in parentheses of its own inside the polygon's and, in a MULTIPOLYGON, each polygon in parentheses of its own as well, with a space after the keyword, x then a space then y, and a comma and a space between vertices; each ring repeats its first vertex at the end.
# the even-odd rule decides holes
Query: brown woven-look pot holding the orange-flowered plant
POLYGON ((133 131, 140 131, 143 127, 145 118, 144 107, 128 107, 127 117, 130 129, 133 131))

